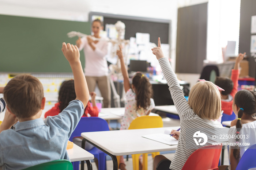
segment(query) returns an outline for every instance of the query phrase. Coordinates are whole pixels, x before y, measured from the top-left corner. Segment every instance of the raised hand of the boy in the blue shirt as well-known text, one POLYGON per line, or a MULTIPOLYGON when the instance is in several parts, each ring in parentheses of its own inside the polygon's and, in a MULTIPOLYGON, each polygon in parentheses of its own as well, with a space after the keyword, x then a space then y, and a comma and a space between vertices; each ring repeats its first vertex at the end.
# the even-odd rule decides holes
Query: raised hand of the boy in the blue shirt
POLYGON ((77 46, 71 45, 70 43, 67 43, 67 45, 66 43, 62 43, 61 51, 70 64, 80 62, 80 53, 77 46))

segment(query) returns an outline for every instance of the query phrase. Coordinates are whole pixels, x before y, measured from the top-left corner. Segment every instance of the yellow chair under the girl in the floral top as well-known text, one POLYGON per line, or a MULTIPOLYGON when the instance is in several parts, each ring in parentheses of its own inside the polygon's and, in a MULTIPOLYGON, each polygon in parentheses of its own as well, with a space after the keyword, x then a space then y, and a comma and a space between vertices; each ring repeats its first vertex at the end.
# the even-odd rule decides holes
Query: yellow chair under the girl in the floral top
MULTIPOLYGON (((140 116, 132 121, 128 129, 146 129, 163 127, 163 121, 160 116, 140 116)), ((152 158, 159 155, 160 152, 151 153, 152 158)), ((141 154, 132 155, 133 170, 139 170, 139 156, 141 154)), ((143 170, 147 170, 147 155, 143 156, 143 170)))

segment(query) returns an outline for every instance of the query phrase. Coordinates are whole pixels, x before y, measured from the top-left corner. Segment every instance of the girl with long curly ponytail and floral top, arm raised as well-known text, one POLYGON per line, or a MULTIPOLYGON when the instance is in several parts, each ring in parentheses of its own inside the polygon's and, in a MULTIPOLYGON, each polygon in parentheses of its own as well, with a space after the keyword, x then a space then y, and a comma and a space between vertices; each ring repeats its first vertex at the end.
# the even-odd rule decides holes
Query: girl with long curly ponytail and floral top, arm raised
MULTIPOLYGON (((121 46, 119 46, 119 48, 120 50, 117 50, 116 54, 120 59, 121 70, 124 77, 124 90, 126 93, 125 113, 121 121, 121 130, 126 130, 136 117, 148 115, 151 110, 154 109, 155 103, 153 98, 151 98, 153 94, 152 86, 144 74, 140 72, 136 73, 132 78, 132 86, 130 85, 121 46)), ((120 157, 119 168, 125 170, 123 156, 120 157)), ((142 166, 140 166, 140 169, 141 168, 142 166)))

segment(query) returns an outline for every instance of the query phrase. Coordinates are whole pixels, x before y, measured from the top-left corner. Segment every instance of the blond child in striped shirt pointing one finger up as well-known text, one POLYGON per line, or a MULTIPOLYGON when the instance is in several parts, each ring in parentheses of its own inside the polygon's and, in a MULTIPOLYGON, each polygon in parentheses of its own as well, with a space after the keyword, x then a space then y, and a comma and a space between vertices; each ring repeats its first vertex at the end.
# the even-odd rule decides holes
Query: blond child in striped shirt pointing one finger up
MULTIPOLYGON (((157 155, 154 158, 154 170, 181 170, 189 156, 202 147, 196 145, 193 140, 193 135, 196 134, 195 130, 199 130, 199 128, 202 130, 210 129, 205 131, 207 136, 219 134, 218 128, 222 128, 222 124, 216 119, 221 116, 221 94, 212 82, 200 81, 191 88, 187 102, 169 60, 163 55, 160 38, 158 38, 158 47, 154 47, 152 51, 156 55, 169 85, 170 93, 180 116, 181 126, 174 158, 170 161, 163 155, 157 155), (187 135, 191 138, 188 138, 187 135)), ((213 142, 218 142, 218 140, 208 138, 204 142, 204 146, 207 146, 212 145, 213 142)))

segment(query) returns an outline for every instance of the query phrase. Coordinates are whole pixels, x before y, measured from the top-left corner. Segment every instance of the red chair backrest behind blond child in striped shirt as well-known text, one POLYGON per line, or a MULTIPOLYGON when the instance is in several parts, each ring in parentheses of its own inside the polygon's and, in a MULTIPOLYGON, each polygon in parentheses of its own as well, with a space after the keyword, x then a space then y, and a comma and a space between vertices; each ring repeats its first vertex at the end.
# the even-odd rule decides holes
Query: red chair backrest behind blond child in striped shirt
POLYGON ((219 157, 221 156, 222 145, 204 146, 193 152, 182 170, 214 170, 218 169, 219 157))

